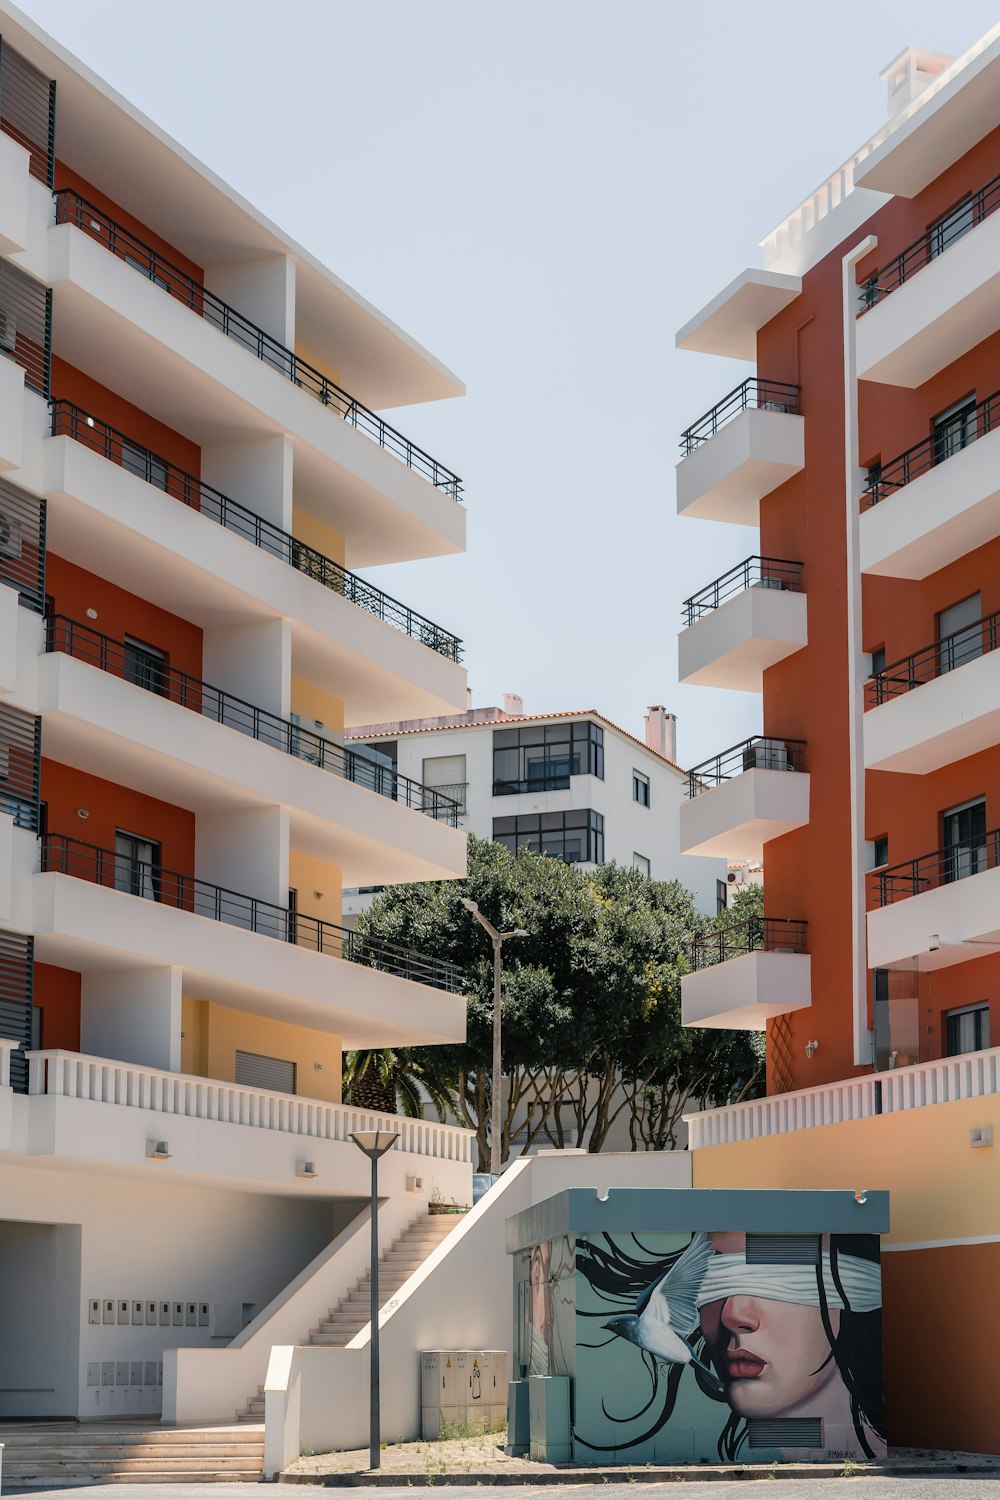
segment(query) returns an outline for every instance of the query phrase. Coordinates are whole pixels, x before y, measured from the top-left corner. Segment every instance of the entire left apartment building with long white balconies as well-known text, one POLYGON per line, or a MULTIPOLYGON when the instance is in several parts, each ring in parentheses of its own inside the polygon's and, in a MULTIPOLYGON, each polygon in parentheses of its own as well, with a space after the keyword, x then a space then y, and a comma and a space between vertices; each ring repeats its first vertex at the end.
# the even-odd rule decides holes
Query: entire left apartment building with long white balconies
MULTIPOLYGON (((6 0, 0 352, 0 1416, 232 1420, 267 1347, 201 1404, 181 1356, 357 1222, 342 1050, 465 1035, 453 966, 342 926, 465 870, 345 744, 465 704, 354 572, 462 550, 376 414, 462 384, 6 0)), ((399 1128, 396 1234, 471 1188, 466 1131, 399 1128)))

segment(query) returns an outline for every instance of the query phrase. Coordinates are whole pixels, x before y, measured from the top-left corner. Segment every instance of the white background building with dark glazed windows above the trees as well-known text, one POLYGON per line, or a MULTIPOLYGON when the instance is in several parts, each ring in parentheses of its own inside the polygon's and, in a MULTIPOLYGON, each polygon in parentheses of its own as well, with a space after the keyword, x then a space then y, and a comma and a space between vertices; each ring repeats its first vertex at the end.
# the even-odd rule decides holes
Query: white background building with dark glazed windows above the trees
MULTIPOLYGON (((372 723, 348 740, 459 804, 459 825, 511 854, 531 849, 583 868, 615 861, 652 880, 681 880, 700 910, 726 908, 726 861, 678 855, 678 808, 688 777, 676 764, 676 717, 654 706, 645 738, 597 710, 526 714, 517 693, 502 708, 372 723)), ((373 892, 345 900, 345 916, 373 892)))

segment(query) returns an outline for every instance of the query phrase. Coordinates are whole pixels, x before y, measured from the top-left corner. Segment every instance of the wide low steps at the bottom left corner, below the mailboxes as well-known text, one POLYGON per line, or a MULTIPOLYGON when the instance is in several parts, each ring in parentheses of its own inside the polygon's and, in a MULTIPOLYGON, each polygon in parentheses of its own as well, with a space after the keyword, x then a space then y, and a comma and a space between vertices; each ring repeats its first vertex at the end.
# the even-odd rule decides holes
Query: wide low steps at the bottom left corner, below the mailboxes
POLYGON ((150 1426, 147 1422, 0 1425, 3 1488, 112 1484, 259 1484, 262 1426, 150 1426))

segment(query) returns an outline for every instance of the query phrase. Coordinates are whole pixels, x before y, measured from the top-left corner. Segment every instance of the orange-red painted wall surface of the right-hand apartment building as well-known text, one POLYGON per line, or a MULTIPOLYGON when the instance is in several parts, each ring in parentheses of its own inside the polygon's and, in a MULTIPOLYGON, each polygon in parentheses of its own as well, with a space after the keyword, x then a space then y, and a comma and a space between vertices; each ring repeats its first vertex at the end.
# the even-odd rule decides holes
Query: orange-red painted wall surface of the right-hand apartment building
MULTIPOLYGON (((760 552, 804 564, 810 645, 769 668, 763 678, 763 730, 807 741, 811 774, 808 826, 765 849, 766 912, 808 921, 813 1004, 769 1026, 771 1092, 847 1078, 868 1068, 853 1059, 852 806, 849 736, 849 618, 844 476, 843 256, 865 236, 877 248, 858 262, 858 282, 907 249, 967 194, 1000 171, 1000 130, 913 200, 892 198, 802 278, 802 294, 757 338, 760 378, 801 387, 805 470, 760 504, 760 552), (805 1042, 817 1040, 813 1058, 805 1042)), ((859 382, 862 468, 889 464, 927 440, 934 418, 973 396, 1000 388, 1000 334, 993 334, 916 390, 859 382)), ((939 615, 970 594, 982 615, 1000 609, 1000 538, 922 580, 862 578, 862 648, 885 650, 886 663, 931 646, 939 615)), ((927 776, 870 771, 865 838, 888 838, 891 866, 930 855, 945 836, 942 814, 985 796, 987 828, 1000 825, 1000 747, 927 776)), ((870 976, 871 980, 871 976, 870 976)), ((1000 954, 912 978, 919 996, 919 1058, 946 1050, 943 1014, 997 998, 1000 954)), ((871 1016, 871 993, 868 996, 871 1016)), ((916 1059, 915 1059, 916 1060, 916 1059)))

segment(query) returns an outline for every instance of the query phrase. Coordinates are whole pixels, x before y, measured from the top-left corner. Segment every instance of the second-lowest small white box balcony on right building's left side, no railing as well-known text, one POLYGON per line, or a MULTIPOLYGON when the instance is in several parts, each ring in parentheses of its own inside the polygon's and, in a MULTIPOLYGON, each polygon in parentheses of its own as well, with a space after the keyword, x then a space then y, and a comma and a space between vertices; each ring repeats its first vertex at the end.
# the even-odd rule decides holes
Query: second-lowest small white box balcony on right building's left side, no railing
POLYGON ((807 771, 753 768, 681 802, 681 854, 760 860, 771 838, 810 820, 807 771))

